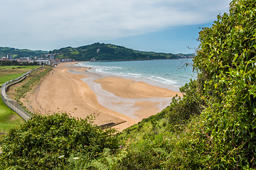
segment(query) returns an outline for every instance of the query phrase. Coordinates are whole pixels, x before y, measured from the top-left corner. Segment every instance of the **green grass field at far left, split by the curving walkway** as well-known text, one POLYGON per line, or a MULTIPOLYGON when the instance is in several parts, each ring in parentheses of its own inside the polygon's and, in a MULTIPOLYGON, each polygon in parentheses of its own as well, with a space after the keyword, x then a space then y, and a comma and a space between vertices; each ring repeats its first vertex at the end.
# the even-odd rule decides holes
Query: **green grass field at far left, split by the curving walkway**
MULTIPOLYGON (((0 86, 6 81, 21 77, 29 70, 38 67, 41 66, 0 66, 0 86)), ((11 111, 0 98, 0 132, 8 132, 10 128, 22 123, 24 123, 24 120, 17 113, 11 111)))

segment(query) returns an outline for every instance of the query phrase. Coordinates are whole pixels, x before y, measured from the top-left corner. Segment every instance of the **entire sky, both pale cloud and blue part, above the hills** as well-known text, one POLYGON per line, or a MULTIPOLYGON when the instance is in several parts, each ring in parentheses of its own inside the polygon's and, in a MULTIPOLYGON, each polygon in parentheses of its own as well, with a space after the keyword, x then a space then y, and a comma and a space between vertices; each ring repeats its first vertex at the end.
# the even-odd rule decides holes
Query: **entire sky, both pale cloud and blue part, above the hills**
POLYGON ((2 0, 0 47, 54 50, 95 42, 193 53, 231 0, 2 0))

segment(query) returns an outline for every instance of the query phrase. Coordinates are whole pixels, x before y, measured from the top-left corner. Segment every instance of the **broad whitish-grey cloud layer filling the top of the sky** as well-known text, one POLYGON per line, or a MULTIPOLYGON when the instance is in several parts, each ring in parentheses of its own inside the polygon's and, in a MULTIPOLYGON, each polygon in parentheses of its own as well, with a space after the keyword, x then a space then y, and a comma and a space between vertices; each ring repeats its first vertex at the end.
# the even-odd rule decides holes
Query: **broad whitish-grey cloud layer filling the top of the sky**
POLYGON ((0 46, 4 42, 107 40, 172 26, 215 20, 227 0, 9 0, 1 1, 0 46))

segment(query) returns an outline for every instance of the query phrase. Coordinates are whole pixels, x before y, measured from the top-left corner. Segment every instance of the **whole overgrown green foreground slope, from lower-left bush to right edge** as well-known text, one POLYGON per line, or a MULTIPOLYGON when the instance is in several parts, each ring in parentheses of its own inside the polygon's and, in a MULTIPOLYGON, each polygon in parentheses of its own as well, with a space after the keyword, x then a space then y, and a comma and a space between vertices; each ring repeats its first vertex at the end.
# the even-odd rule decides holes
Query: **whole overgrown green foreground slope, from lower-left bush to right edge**
POLYGON ((0 169, 256 169, 256 6, 230 2, 203 28, 183 98, 120 133, 35 115, 0 137, 0 169))

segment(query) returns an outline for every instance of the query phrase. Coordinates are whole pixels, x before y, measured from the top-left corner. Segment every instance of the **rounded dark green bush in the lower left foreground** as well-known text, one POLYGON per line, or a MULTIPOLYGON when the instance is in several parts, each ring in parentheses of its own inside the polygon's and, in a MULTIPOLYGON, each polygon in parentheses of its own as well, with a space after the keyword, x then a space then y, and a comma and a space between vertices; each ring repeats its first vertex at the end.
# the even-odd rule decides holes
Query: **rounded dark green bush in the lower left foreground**
POLYGON ((34 115, 9 131, 2 146, 0 169, 63 169, 68 164, 65 158, 71 154, 89 162, 104 148, 117 149, 113 132, 92 125, 91 117, 77 119, 67 113, 34 115))

